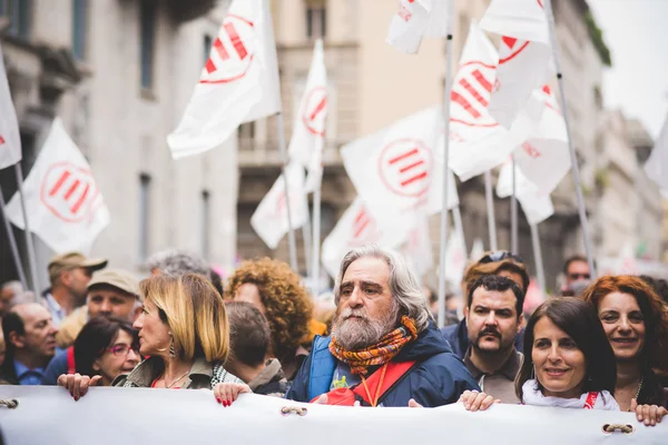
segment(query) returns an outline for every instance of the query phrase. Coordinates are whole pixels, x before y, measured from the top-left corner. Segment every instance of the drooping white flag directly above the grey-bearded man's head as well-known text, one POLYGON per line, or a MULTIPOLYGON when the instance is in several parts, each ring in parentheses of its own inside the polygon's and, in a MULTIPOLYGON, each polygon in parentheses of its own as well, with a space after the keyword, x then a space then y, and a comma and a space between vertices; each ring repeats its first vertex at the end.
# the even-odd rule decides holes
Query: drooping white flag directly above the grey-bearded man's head
POLYGON ((410 218, 387 219, 381 224, 357 196, 323 241, 322 264, 327 274, 336 278, 341 260, 351 249, 370 243, 397 247, 406 239, 411 224, 410 218))

